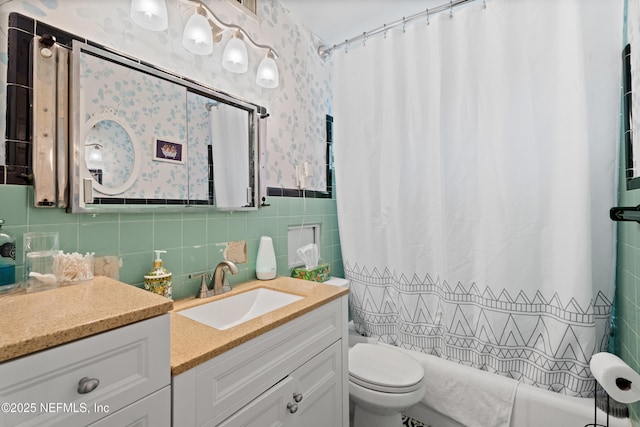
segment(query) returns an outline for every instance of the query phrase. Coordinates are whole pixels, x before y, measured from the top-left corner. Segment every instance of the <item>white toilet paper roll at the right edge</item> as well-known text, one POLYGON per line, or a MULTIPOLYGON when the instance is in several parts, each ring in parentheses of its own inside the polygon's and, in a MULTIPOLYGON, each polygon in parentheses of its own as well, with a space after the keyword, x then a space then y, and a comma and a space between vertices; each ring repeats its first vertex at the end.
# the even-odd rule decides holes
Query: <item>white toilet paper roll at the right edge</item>
POLYGON ((613 399, 621 403, 640 400, 640 375, 611 353, 591 356, 591 373, 613 399))

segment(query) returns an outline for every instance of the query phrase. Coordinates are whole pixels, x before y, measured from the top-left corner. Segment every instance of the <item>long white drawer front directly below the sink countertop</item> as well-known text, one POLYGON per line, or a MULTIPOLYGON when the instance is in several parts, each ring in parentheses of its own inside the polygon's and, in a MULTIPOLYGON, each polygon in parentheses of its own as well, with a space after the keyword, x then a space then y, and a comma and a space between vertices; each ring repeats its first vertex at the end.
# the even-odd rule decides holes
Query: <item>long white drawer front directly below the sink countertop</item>
POLYGON ((173 424, 219 424, 340 340, 342 316, 332 301, 174 377, 173 424))

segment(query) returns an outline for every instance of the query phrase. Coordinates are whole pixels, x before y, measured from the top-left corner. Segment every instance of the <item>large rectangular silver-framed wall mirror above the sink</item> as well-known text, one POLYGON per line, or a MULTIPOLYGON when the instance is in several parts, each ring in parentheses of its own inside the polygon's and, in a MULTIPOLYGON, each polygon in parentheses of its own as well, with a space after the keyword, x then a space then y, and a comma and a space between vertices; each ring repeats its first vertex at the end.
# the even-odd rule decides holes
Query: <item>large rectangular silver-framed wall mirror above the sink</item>
POLYGON ((257 209, 265 109, 74 41, 72 212, 257 209))

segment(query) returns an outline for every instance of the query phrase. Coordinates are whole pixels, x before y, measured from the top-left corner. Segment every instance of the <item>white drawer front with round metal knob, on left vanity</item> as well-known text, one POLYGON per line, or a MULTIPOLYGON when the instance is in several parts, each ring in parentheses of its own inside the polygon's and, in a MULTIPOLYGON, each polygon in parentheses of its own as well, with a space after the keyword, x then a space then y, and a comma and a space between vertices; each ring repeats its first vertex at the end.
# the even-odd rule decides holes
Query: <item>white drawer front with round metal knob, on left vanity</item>
POLYGON ((165 314, 0 364, 0 427, 95 422, 168 385, 169 355, 165 314))

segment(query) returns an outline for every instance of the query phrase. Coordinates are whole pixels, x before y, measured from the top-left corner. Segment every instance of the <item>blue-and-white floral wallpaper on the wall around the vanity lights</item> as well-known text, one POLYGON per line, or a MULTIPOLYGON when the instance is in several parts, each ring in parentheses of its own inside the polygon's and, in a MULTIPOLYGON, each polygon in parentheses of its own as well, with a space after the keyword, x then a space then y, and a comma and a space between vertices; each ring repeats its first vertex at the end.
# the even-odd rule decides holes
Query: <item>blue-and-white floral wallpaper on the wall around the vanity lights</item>
MULTIPOLYGON (((234 74, 221 66, 220 58, 230 34, 208 56, 191 54, 182 46, 184 24, 194 8, 178 0, 165 0, 169 28, 145 30, 129 17, 130 0, 8 0, 0 4, 0 78, 6 81, 7 19, 18 12, 85 37, 204 85, 230 93, 267 108, 268 135, 263 147, 264 184, 295 188, 295 166, 311 163, 309 189, 325 190, 325 115, 331 105, 331 63, 317 54, 312 33, 298 24, 277 0, 261 0, 257 19, 244 14, 228 0, 203 0, 227 23, 241 25, 258 43, 272 46, 278 54, 280 86, 256 85, 255 72, 264 51, 248 47, 249 72, 234 74)), ((1 97, 6 88, 0 85, 1 97)), ((0 116, 5 117, 5 102, 0 116)), ((4 120, 0 120, 4 134, 4 120)), ((0 164, 4 150, 0 150, 0 164)))

